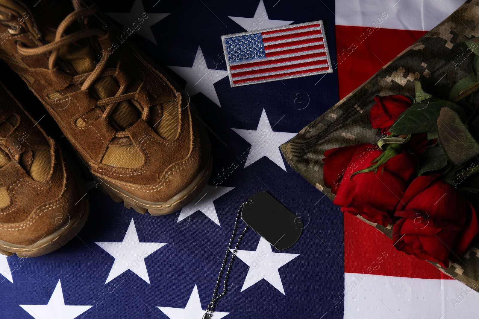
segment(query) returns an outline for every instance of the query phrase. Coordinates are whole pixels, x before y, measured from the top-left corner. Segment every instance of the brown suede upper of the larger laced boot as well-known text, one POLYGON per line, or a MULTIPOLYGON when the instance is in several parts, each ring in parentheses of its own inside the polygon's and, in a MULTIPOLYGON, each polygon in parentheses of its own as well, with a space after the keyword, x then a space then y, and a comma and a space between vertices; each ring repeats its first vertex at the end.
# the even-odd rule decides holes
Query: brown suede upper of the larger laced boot
MULTIPOLYGON (((3 10, 1 6, 0 9, 3 10)), ((91 6, 91 9, 101 20, 108 20, 102 12, 97 11, 96 6, 91 6)), ((13 11, 12 16, 21 16, 22 13, 13 11)), ((114 41, 118 42, 115 39, 118 39, 121 33, 114 27, 114 23, 108 23, 110 27, 105 27, 103 23, 95 22, 95 15, 89 17, 91 24, 103 28, 106 32, 105 36, 97 39, 96 45, 102 50, 111 51, 112 44, 114 41)), ((34 24, 38 21, 31 12, 29 19, 32 19, 34 24)), ((95 107, 96 99, 88 90, 81 90, 81 84, 75 86, 70 83, 72 74, 64 72, 59 66, 48 69, 49 53, 26 56, 18 52, 18 41, 26 47, 45 44, 36 28, 29 30, 26 24, 23 24, 22 28, 20 34, 12 35, 0 44, 0 56, 14 71, 23 76, 29 88, 57 121, 62 132, 95 176, 137 198, 162 203, 188 187, 205 169, 209 158, 209 142, 207 135, 202 132, 204 128, 197 123, 196 116, 192 116, 192 106, 184 102, 182 94, 164 76, 164 72, 153 66, 150 59, 128 41, 118 44, 114 50, 114 55, 119 59, 114 78, 120 86, 140 78, 141 85, 135 91, 134 99, 142 108, 159 111, 150 110, 150 117, 155 118, 148 119, 148 122, 138 120, 125 130, 127 138, 120 140, 123 144, 133 143, 141 153, 141 167, 121 168, 102 164, 107 148, 118 144, 109 119, 103 117, 102 112, 95 107), (30 83, 24 76, 33 78, 33 82, 30 83), (48 97, 49 93, 60 90, 62 98, 52 100, 48 97), (160 105, 165 102, 177 104, 180 119, 178 134, 170 141, 163 139, 148 124, 160 120, 160 105), (78 127, 78 118, 86 125, 78 127)), ((5 31, 6 27, 0 25, 0 33, 5 31)))

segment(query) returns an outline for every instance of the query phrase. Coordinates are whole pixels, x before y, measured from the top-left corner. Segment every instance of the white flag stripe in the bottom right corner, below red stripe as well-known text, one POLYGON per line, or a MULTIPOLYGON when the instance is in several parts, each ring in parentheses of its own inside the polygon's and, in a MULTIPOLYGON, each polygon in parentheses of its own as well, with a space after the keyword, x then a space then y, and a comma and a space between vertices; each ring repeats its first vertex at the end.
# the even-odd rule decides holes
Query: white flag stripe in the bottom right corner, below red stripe
POLYGON ((479 314, 479 293, 458 280, 345 273, 344 285, 344 319, 463 319, 479 314))

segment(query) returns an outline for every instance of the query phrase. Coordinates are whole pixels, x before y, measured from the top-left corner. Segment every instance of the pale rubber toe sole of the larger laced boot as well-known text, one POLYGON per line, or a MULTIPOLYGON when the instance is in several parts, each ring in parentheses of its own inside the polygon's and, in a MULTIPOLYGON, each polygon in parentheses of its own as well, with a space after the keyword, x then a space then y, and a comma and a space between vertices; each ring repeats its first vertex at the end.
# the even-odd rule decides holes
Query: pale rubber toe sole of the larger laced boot
POLYGON ((147 211, 152 216, 171 214, 188 205, 205 188, 211 175, 213 167, 212 157, 209 156, 206 167, 196 176, 194 181, 183 189, 180 193, 166 202, 150 202, 138 198, 115 185, 100 179, 93 175, 93 179, 98 183, 98 187, 103 194, 110 196, 115 202, 123 202, 127 209, 135 209, 137 212, 145 214, 147 211))

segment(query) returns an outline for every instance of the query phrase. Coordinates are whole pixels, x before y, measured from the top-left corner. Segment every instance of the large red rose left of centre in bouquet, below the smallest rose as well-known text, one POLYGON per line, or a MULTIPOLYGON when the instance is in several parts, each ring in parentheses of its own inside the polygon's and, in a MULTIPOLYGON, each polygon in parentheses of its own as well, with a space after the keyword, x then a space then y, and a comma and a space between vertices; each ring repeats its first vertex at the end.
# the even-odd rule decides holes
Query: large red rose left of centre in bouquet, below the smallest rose
POLYGON ((377 168, 376 172, 353 174, 371 166, 383 151, 369 143, 325 152, 324 184, 336 193, 333 203, 343 212, 360 215, 387 226, 416 171, 417 158, 401 153, 377 168), (347 164, 346 164, 347 163, 347 164))

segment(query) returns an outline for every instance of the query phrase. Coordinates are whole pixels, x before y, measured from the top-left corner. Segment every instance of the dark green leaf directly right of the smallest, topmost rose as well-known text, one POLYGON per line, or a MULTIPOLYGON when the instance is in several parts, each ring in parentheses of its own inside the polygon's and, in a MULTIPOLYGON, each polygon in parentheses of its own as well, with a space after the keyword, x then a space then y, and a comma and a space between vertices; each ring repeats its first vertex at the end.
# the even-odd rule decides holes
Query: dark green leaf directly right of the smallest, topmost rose
POLYGON ((435 131, 437 117, 443 107, 461 109, 456 103, 445 99, 430 99, 427 103, 413 104, 399 115, 389 132, 401 135, 435 131))

